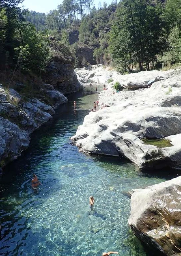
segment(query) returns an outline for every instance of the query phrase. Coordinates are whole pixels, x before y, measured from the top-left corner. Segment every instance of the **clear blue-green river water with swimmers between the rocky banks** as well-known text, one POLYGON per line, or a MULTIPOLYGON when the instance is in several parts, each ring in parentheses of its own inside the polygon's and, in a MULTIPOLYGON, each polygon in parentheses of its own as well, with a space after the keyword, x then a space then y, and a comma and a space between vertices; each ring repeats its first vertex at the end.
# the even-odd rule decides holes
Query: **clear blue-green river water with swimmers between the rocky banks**
POLYGON ((117 158, 82 154, 71 144, 69 138, 97 99, 90 93, 70 96, 0 177, 0 255, 152 255, 129 231, 130 199, 122 192, 165 179, 142 175, 117 158), (33 173, 42 182, 36 192, 33 173))

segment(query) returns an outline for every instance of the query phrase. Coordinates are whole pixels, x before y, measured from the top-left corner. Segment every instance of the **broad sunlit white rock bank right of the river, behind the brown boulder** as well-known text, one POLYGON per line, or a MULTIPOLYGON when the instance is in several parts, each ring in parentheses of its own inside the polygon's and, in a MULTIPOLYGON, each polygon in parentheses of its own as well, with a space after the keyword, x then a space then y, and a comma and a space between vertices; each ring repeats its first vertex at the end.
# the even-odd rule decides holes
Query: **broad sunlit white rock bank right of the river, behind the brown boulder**
POLYGON ((107 86, 99 95, 103 105, 85 117, 72 137, 82 151, 123 156, 142 170, 181 169, 181 69, 120 75, 97 65, 76 73, 81 82, 107 86), (113 88, 116 81, 120 92, 113 88), (171 147, 142 139, 165 139, 171 147))

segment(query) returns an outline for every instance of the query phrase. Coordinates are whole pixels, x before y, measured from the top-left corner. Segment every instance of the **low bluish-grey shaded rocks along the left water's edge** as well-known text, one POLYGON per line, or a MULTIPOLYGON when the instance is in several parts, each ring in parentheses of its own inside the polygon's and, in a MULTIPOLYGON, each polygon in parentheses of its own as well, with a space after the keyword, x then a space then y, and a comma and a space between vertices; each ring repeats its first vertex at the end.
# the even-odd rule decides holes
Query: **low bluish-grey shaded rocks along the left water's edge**
POLYGON ((0 86, 0 168, 20 156, 29 145, 29 134, 51 119, 57 106, 68 102, 51 85, 44 87, 46 94, 53 107, 38 99, 25 102, 14 89, 7 92, 0 86))

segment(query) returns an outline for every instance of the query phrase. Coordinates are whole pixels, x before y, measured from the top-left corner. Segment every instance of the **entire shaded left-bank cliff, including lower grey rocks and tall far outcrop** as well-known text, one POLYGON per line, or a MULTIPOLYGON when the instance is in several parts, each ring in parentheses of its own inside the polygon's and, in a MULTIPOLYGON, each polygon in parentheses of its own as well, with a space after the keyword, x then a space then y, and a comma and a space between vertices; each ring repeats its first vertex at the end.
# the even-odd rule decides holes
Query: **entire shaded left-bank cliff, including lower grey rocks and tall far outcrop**
POLYGON ((63 94, 83 89, 74 72, 71 53, 54 38, 50 40, 53 57, 42 73, 45 84, 40 79, 41 84, 32 80, 25 85, 17 82, 15 76, 13 85, 18 91, 0 86, 0 169, 20 156, 29 145, 29 134, 51 119, 54 109, 68 101, 63 94))

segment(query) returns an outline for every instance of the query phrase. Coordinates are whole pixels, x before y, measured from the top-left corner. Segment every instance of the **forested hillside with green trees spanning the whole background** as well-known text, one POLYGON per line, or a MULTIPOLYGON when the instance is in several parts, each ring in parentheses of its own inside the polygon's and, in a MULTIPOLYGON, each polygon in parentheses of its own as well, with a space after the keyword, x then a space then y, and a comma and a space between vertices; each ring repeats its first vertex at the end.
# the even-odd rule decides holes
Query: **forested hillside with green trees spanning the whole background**
POLYGON ((51 59, 49 37, 68 47, 75 66, 117 64, 121 72, 180 63, 181 0, 64 0, 48 14, 0 3, 1 69, 40 76, 51 59))

